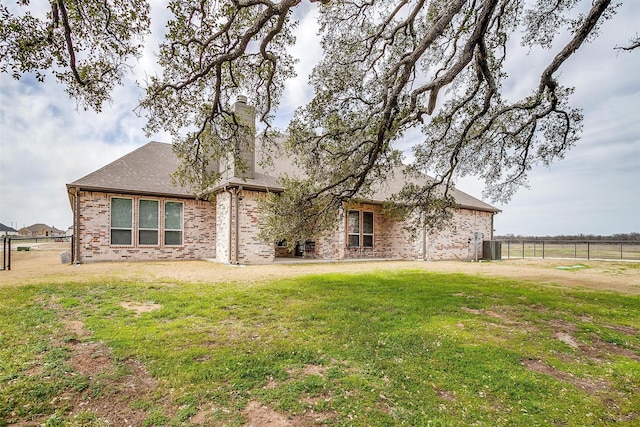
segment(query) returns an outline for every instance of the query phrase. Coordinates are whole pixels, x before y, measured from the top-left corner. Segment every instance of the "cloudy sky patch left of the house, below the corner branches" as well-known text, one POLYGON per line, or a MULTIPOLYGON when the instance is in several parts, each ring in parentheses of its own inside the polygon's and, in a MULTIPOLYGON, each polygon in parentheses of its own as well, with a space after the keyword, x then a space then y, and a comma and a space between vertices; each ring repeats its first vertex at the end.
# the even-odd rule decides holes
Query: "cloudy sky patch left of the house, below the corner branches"
POLYGON ((71 225, 65 184, 147 142, 132 113, 137 91, 116 90, 100 114, 76 111, 56 84, 0 75, 0 222, 71 225))

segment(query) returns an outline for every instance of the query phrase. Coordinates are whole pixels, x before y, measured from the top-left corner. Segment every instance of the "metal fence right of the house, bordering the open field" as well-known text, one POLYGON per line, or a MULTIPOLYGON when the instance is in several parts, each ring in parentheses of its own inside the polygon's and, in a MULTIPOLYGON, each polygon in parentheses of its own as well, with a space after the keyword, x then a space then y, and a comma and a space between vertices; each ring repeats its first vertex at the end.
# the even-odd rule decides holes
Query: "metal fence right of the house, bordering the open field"
POLYGON ((640 261, 640 242, 502 240, 502 259, 576 258, 640 261))

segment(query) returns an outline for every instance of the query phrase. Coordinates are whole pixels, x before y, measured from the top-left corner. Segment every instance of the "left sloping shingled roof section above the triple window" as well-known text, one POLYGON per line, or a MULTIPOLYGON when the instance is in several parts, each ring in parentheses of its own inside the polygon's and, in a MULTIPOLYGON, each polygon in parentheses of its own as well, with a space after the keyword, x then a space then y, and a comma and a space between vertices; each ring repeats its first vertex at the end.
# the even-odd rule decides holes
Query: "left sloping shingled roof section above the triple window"
POLYGON ((173 184, 171 174, 178 165, 171 144, 152 141, 67 184, 67 189, 195 198, 188 188, 173 184))

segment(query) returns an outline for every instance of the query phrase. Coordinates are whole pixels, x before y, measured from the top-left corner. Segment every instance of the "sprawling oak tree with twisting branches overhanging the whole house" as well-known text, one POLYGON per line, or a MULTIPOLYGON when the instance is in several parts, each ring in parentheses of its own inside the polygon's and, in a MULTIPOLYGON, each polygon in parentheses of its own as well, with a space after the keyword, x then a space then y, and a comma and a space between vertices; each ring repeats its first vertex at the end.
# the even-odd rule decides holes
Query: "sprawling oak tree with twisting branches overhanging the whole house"
MULTIPOLYGON (((21 0, 27 5, 27 0, 21 0)), ((562 158, 579 138, 562 65, 611 18, 611 0, 170 0, 162 69, 140 103, 147 131, 168 130, 178 177, 197 190, 219 178, 210 162, 237 150, 248 127, 232 102, 246 95, 261 137, 272 140, 278 103, 294 75, 294 29, 318 9, 323 56, 309 76, 314 96, 295 112, 287 153, 305 171, 263 203, 265 238, 314 236, 336 208, 366 198, 397 170, 397 143, 419 129, 414 174, 394 198, 418 226, 439 225, 457 176, 479 176, 492 200, 508 200, 535 164, 562 158), (561 44, 557 35, 568 33, 561 44), (528 96, 503 96, 518 43, 553 51, 528 96), (426 173, 435 178, 425 179, 426 173), (286 218, 285 221, 282 219, 286 218)), ((52 0, 46 18, 0 7, 0 66, 19 76, 54 69, 72 96, 99 108, 139 53, 144 0, 52 0)), ((637 37, 621 49, 638 47, 637 37)), ((400 207, 401 209, 398 209, 400 207)), ((443 216, 444 215, 444 216, 443 216)))

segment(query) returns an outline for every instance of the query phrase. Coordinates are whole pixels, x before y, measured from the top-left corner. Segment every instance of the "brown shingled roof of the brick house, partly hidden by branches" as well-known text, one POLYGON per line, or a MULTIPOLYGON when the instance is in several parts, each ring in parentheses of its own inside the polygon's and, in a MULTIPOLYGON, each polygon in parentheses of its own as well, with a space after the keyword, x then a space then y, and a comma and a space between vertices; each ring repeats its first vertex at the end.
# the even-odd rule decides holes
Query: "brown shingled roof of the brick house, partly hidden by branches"
MULTIPOLYGON (((272 152, 263 149, 259 140, 260 138, 256 139, 254 178, 230 178, 216 185, 211 192, 221 191, 224 186, 229 185, 279 192, 283 190, 278 179, 281 174, 287 173, 290 176, 301 174, 291 159, 286 156, 277 156, 267 164, 261 162, 260 159, 263 156, 272 152)), ((149 142, 103 168, 67 184, 67 188, 79 187, 86 191, 195 198, 192 191, 176 186, 171 179, 171 174, 177 170, 179 164, 180 160, 173 152, 171 144, 149 142)), ((428 177, 425 178, 428 179, 428 177)), ((391 195, 399 192, 406 182, 407 177, 403 170, 398 168, 385 182, 379 184, 368 200, 374 203, 388 200, 391 195)), ((487 212, 500 211, 460 190, 453 189, 452 195, 460 207, 487 212)))

